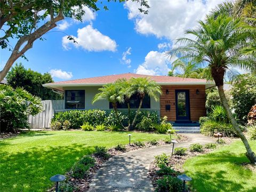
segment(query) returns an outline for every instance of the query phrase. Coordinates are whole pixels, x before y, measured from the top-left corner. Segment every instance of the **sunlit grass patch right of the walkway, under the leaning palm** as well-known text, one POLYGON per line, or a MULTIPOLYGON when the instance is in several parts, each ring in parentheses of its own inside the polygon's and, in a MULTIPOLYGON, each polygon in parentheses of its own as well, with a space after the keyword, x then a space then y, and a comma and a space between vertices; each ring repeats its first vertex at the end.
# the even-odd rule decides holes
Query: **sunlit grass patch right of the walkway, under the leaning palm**
MULTIPOLYGON (((250 142, 256 151, 256 141, 250 142)), ((256 191, 256 172, 239 165, 249 162, 242 141, 223 146, 210 154, 189 158, 184 166, 197 192, 256 191)))

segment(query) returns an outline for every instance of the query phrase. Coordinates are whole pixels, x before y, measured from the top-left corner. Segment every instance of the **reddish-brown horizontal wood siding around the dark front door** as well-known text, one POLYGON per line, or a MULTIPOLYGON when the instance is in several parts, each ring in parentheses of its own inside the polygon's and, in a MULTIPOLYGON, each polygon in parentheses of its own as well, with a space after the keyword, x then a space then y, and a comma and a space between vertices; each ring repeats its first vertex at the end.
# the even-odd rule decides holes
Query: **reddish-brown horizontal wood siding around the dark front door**
POLYGON ((167 116, 168 121, 176 121, 175 90, 189 90, 191 121, 198 121, 199 117, 205 116, 205 85, 162 85, 161 117, 167 116), (169 94, 166 94, 166 90, 169 90, 169 94), (199 90, 199 94, 196 94, 196 90, 199 90), (165 105, 171 105, 171 110, 166 111, 165 105))

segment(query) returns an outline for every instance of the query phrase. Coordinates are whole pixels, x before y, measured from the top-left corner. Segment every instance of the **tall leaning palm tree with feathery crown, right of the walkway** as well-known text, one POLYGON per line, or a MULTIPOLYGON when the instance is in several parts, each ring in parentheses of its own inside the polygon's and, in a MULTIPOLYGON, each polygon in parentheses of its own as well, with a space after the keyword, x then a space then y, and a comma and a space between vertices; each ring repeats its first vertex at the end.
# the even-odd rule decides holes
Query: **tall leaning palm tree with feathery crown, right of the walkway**
POLYGON ((177 42, 183 45, 172 49, 168 54, 171 59, 178 57, 207 64, 207 68, 211 71, 211 76, 218 87, 227 117, 244 143, 247 151, 246 156, 251 162, 256 162, 256 156, 243 132, 239 129, 223 90, 223 79, 230 68, 239 67, 251 72, 256 71, 255 58, 239 53, 247 45, 247 34, 239 31, 241 22, 241 19, 234 19, 226 14, 221 14, 218 17, 207 16, 205 21, 198 21, 196 29, 185 31, 185 34, 194 36, 194 38, 178 39, 177 42))

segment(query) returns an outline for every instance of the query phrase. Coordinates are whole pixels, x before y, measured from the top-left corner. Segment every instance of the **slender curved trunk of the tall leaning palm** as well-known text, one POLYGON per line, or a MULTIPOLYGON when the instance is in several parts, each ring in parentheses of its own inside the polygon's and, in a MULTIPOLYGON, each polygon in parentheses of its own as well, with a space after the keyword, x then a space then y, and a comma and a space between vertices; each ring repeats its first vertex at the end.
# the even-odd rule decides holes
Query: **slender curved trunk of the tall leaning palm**
POLYGON ((229 108, 229 105, 228 105, 228 101, 227 101, 227 98, 226 98, 226 95, 224 93, 224 90, 223 90, 223 85, 219 85, 218 86, 218 91, 219 91, 219 95, 220 95, 220 100, 221 100, 221 103, 223 105, 223 107, 225 108, 226 112, 227 112, 227 117, 230 121, 230 123, 233 125, 234 129, 236 130, 239 138, 241 138, 241 140, 243 141, 244 143, 244 146, 246 148, 246 156, 247 158, 249 158, 250 162, 251 163, 255 163, 256 162, 256 156, 255 154, 253 153, 247 139, 245 138, 243 132, 241 131, 241 129, 239 128, 233 114, 231 113, 231 110, 229 108))

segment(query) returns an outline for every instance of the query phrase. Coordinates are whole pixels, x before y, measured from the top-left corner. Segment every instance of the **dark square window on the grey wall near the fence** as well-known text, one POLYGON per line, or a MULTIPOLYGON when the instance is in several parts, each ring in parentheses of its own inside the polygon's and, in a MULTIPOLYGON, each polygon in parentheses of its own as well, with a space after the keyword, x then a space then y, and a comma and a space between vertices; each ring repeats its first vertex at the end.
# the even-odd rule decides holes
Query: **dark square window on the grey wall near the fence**
POLYGON ((84 109, 84 90, 65 91, 65 109, 84 109))

